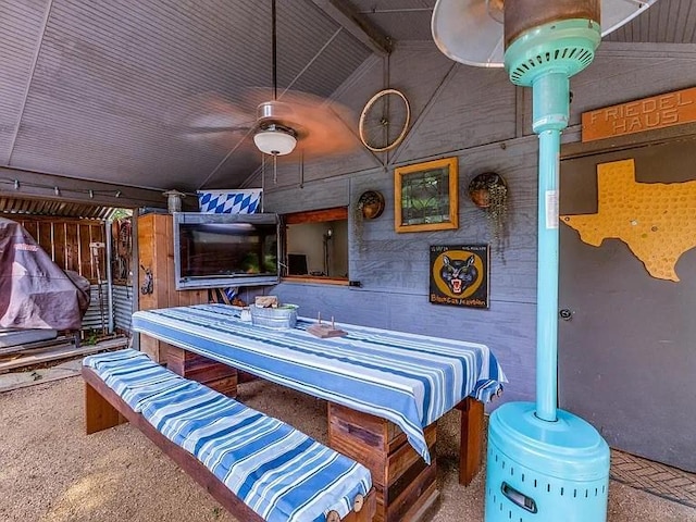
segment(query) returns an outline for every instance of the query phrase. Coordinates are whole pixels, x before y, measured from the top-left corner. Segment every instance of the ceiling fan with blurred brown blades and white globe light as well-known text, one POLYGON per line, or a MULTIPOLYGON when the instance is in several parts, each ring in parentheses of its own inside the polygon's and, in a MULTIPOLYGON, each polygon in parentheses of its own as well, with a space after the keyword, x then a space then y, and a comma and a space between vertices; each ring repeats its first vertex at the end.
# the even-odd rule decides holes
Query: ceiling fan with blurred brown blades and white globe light
POLYGON ((227 152, 246 147, 251 137, 256 149, 274 159, 296 148, 312 157, 352 150, 358 144, 346 108, 309 92, 278 92, 276 0, 271 0, 271 23, 272 88, 246 89, 235 102, 215 92, 191 97, 173 117, 182 122, 183 136, 227 152))

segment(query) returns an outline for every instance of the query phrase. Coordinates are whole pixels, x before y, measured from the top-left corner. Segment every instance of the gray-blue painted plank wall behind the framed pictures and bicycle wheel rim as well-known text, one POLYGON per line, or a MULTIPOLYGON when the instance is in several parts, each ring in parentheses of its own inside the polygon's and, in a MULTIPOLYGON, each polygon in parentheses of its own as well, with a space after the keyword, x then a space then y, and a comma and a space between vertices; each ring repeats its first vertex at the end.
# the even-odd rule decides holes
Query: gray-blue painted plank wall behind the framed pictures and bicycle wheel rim
MULTIPOLYGON (((611 103, 675 90, 696 80, 695 46, 605 42, 589 69, 571 80, 571 127, 564 142, 580 139, 580 113, 611 103)), ((406 140, 388 156, 360 147, 332 160, 279 163, 277 185, 268 183, 265 210, 278 213, 355 207, 366 189, 386 199, 383 215, 356 227, 349 212, 349 273, 362 287, 283 283, 266 289, 300 304, 302 315, 418 332, 487 344, 510 384, 505 400, 534 398, 536 313, 537 138, 530 125, 531 97, 500 70, 468 67, 442 55, 433 44, 403 45, 393 53, 389 86, 403 90, 414 121, 406 140), (394 167, 459 158, 459 228, 434 233, 394 231, 394 167), (501 174, 510 204, 502 252, 493 252, 488 310, 430 304, 428 246, 488 243, 485 214, 467 196, 472 177, 501 174)), ((384 87, 383 64, 370 59, 337 92, 355 111, 384 87)), ((260 186, 261 181, 249 179, 260 186)))

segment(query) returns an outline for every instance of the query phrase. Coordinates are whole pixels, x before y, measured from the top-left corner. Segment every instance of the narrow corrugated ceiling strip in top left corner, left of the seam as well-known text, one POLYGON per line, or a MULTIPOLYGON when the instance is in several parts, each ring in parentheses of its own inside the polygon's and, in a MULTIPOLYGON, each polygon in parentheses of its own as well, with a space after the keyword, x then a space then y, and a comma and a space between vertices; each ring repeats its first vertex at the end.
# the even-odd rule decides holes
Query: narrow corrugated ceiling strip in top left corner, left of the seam
POLYGON ((0 164, 10 161, 47 4, 48 0, 4 0, 0 5, 0 164))

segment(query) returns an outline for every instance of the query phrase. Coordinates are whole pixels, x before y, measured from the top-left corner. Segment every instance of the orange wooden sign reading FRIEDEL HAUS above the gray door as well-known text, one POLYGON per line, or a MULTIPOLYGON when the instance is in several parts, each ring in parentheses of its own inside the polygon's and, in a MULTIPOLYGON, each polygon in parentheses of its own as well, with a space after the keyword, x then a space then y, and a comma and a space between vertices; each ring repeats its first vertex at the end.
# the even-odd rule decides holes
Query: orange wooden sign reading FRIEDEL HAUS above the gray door
POLYGON ((583 142, 696 122, 696 87, 583 112, 583 142))

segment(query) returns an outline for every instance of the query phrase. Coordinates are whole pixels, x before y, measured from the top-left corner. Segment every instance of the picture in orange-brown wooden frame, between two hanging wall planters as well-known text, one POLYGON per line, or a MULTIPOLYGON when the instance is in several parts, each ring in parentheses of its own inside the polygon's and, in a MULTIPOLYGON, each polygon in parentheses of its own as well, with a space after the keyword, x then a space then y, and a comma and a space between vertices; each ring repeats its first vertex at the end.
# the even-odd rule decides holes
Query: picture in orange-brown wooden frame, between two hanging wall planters
POLYGON ((457 158, 394 171, 396 232, 446 231, 459 226, 457 158))

